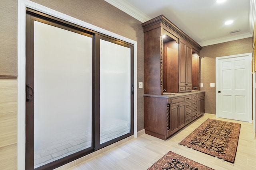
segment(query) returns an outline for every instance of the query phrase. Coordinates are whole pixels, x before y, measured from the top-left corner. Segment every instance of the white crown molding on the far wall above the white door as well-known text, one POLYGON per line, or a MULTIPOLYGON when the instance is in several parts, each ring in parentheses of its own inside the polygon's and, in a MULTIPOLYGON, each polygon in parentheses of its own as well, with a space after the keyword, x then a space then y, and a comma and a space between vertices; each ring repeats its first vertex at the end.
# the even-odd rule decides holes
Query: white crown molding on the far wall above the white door
POLYGON ((198 42, 198 44, 201 45, 202 47, 204 47, 207 45, 225 43, 228 41, 234 41, 234 40, 244 39, 244 38, 249 38, 249 37, 252 37, 252 34, 247 32, 247 33, 243 33, 243 34, 239 34, 239 35, 232 35, 232 36, 229 35, 229 36, 225 36, 225 37, 210 39, 207 41, 201 41, 201 42, 198 42))

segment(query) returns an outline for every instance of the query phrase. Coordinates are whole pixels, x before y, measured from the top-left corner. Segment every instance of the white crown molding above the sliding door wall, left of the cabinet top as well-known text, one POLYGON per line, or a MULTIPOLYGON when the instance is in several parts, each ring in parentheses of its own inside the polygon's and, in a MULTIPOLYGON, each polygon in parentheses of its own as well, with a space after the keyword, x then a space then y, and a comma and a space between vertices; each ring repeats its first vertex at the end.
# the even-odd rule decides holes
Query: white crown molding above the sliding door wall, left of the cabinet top
POLYGON ((115 6, 119 10, 125 12, 126 14, 132 16, 133 18, 141 21, 142 23, 151 20, 144 12, 141 12, 138 8, 128 3, 125 0, 105 0, 109 4, 115 6))

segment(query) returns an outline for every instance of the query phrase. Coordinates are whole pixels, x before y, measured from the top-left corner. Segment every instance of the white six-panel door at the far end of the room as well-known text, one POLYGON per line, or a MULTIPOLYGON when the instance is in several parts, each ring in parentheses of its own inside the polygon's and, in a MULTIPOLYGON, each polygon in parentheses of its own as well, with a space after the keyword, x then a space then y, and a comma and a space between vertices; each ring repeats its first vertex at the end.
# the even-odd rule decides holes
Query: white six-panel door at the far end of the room
POLYGON ((248 56, 218 60, 219 117, 250 121, 250 70, 248 56))

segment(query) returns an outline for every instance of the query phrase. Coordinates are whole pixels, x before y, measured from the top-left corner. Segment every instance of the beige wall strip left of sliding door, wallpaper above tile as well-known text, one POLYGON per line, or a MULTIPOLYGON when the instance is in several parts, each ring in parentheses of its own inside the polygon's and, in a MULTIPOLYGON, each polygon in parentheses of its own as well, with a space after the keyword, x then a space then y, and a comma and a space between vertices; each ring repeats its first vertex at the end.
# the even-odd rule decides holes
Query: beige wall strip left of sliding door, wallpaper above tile
POLYGON ((17 169, 17 0, 0 5, 0 169, 17 169), (14 80, 8 80, 8 79, 14 80))

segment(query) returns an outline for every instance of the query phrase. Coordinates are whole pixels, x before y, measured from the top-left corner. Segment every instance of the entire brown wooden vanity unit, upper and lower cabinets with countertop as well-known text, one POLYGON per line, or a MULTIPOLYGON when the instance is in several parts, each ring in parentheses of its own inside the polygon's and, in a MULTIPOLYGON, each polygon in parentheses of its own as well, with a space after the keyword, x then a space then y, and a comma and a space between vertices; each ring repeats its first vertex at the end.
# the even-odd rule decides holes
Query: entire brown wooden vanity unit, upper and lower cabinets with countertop
POLYGON ((204 114, 202 47, 163 15, 144 29, 144 129, 166 140, 204 114))

